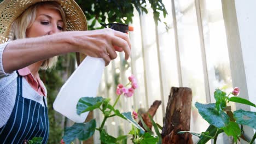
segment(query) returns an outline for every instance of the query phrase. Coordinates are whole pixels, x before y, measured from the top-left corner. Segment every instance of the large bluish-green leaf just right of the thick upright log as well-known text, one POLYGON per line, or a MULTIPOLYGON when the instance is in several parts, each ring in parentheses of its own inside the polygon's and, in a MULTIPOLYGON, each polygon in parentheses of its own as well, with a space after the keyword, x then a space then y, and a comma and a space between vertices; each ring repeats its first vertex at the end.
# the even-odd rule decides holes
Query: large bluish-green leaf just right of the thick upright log
POLYGON ((198 109, 200 115, 208 123, 214 125, 217 128, 226 127, 229 123, 229 116, 226 115, 223 111, 218 111, 215 108, 215 104, 200 104, 195 103, 196 108, 198 109))

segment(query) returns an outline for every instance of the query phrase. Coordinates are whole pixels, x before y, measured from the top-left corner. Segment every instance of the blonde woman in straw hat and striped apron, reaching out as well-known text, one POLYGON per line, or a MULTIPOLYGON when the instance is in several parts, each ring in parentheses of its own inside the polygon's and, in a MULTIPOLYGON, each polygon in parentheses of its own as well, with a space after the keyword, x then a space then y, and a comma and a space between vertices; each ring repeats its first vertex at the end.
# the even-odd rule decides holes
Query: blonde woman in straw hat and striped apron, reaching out
POLYGON ((47 143, 46 89, 38 70, 53 67, 56 56, 68 52, 103 58, 106 65, 116 51, 128 59, 130 40, 112 29, 86 31, 86 18, 73 0, 5 0, 0 14, 0 143, 33 137, 47 143))

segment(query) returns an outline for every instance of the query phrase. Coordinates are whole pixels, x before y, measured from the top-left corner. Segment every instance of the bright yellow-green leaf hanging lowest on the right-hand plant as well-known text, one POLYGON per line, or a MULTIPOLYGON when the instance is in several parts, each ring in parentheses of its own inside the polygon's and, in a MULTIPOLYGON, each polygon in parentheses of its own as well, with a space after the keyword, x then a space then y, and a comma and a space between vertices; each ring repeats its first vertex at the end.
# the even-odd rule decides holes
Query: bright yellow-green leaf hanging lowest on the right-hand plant
POLYGON ((239 135, 241 134, 241 129, 239 128, 239 125, 235 122, 230 122, 226 127, 222 128, 226 135, 233 136, 234 141, 236 142, 239 135))

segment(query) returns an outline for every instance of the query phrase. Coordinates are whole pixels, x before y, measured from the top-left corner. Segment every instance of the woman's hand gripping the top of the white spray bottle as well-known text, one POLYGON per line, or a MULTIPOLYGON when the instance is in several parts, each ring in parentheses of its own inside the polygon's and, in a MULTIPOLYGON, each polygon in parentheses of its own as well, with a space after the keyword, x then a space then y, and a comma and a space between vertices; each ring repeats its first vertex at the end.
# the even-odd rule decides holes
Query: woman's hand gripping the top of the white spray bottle
POLYGON ((76 52, 91 57, 103 58, 106 65, 117 58, 116 51, 124 51, 127 60, 131 53, 131 43, 127 34, 113 29, 98 29, 94 31, 64 32, 68 42, 76 52))

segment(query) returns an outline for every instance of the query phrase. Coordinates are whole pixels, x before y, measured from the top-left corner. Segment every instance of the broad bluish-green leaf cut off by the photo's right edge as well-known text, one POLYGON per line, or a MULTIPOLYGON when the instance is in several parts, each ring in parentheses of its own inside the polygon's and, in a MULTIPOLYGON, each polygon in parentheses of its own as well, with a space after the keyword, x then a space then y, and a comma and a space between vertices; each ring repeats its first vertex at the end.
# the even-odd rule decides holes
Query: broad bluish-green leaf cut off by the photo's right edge
POLYGON ((256 129, 256 112, 238 110, 234 111, 234 118, 236 119, 236 123, 248 125, 256 129))

